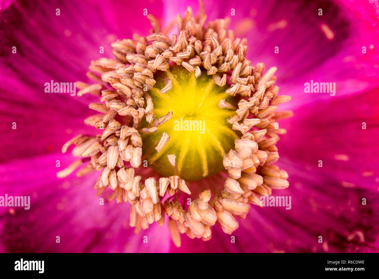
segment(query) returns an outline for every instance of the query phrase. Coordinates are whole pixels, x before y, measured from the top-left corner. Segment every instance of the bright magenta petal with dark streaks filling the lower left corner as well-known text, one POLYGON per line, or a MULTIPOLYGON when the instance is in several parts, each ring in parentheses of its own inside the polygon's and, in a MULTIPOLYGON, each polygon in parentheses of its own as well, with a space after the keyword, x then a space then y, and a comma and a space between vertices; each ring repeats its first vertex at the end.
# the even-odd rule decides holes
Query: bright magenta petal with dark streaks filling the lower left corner
MULTIPOLYGON (((51 154, 0 166, 4 196, 30 196, 30 209, 0 208, 0 248, 3 252, 164 252, 169 248, 166 227, 152 224, 134 234, 129 204, 96 196, 97 174, 58 179, 70 155, 51 154), (56 168, 61 160, 61 168, 56 168), (30 166, 22 167, 20 166, 30 166), (100 205, 104 198, 104 205, 100 205), (13 213, 13 214, 12 214, 13 213), (60 243, 56 243, 56 237, 60 243), (144 237, 147 236, 147 243, 144 237)), ((84 165, 83 165, 84 166, 84 165)))

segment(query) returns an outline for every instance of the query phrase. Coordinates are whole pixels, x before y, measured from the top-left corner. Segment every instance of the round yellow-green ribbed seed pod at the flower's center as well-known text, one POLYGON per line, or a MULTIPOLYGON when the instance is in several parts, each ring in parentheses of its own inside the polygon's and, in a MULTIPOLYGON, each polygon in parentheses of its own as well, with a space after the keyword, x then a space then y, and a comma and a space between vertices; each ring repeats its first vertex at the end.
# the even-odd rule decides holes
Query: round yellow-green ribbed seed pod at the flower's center
MULTIPOLYGON (((225 91, 227 86, 218 86, 211 75, 204 71, 200 77, 183 67, 171 67, 157 75, 157 84, 149 91, 154 104, 153 113, 160 118, 172 111, 172 117, 158 126, 155 133, 144 133, 143 160, 147 160, 163 176, 179 175, 185 180, 199 180, 222 169, 225 153, 234 147, 239 138, 227 119, 235 114, 218 106, 220 100, 236 104, 225 91), (172 89, 161 94, 160 89, 172 82, 172 89), (155 147, 163 132, 169 141, 158 152, 155 147), (167 155, 175 154, 175 173, 167 155)), ((147 122, 141 123, 148 126, 147 122)))

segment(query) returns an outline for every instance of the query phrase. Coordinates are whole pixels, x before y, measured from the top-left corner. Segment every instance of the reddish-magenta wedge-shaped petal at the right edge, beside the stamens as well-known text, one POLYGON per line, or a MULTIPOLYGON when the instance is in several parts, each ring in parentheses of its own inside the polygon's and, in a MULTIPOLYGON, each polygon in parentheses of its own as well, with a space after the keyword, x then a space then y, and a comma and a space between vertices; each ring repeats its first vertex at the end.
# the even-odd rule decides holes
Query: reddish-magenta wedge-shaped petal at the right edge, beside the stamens
POLYGON ((379 90, 304 106, 294 111, 291 119, 280 122, 288 127, 287 135, 278 142, 280 155, 306 164, 335 177, 341 185, 376 190, 379 179, 379 90), (288 136, 291 135, 291 136, 288 136), (293 139, 299 139, 294 144, 293 139), (346 183, 345 183, 346 185, 346 183))

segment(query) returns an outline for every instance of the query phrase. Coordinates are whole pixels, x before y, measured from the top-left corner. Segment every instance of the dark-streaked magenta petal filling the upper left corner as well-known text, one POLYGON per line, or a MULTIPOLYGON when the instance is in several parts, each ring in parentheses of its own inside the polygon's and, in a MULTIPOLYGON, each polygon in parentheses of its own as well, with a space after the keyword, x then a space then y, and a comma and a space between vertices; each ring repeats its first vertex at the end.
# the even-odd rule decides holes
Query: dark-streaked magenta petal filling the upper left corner
POLYGON ((97 133, 83 123, 96 113, 88 104, 98 102, 97 97, 45 93, 45 83, 89 82, 85 73, 90 61, 112 57, 111 42, 149 32, 144 8, 161 17, 160 2, 133 2, 128 9, 135 13, 127 20, 138 25, 130 25, 120 5, 124 2, 15 1, 0 10, 0 125, 8 138, 8 154, 2 152, 0 161, 59 151, 77 133, 97 133))

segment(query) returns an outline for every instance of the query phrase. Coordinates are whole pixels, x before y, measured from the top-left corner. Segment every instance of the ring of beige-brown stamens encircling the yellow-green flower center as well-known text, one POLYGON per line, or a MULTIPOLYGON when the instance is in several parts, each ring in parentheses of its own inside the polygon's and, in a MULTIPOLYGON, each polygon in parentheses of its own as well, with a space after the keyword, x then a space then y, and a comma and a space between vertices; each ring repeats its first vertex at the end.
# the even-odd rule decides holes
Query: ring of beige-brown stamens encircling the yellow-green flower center
MULTIPOLYGON (((279 135, 285 134, 285 129, 279 129, 276 121, 291 116, 289 111, 277 112, 276 109, 291 98, 277 95, 276 67, 264 73, 263 63, 251 66, 245 57, 247 41, 235 39, 233 32, 227 30, 229 19, 216 19, 204 27, 206 15, 201 1, 196 17, 191 8, 185 17, 177 17, 180 32, 172 39, 165 35, 166 31, 161 31, 153 16, 148 18, 153 26, 149 36, 133 35, 133 39, 117 40, 111 44, 116 60, 101 58, 91 62, 87 75, 97 84, 77 82, 81 89, 78 96, 101 94, 100 103, 89 105, 99 114, 86 118, 85 123, 102 129, 103 133, 75 136, 64 144, 62 152, 75 144, 72 150, 75 157, 90 157, 90 160, 84 159, 85 167, 77 172, 78 176, 102 169, 95 185, 97 194, 109 186, 113 190, 110 199, 130 202, 130 226, 136 227, 136 232, 147 229, 154 221, 163 225, 163 208, 170 217, 168 226, 176 246, 180 246, 180 234, 184 233, 190 238, 210 239, 211 227, 216 222, 224 232, 231 234, 238 228, 235 217, 245 218, 249 203, 262 206, 260 196, 289 185, 287 172, 273 163, 279 158, 275 144, 279 135), (160 177, 158 181, 149 177, 141 183, 142 177, 135 175, 135 168, 142 163, 141 134, 157 132, 158 126, 172 117, 168 111, 155 118, 154 104, 148 93, 155 86, 155 73, 168 71, 170 62, 193 72, 195 77, 212 75, 218 86, 229 85, 229 80, 226 93, 239 100, 236 106, 225 99, 218 103, 220 108, 235 111, 227 122, 242 135, 235 139, 234 148, 224 154, 222 163, 229 175, 224 188, 214 193, 213 198, 210 190, 203 191, 187 210, 177 199, 168 198, 161 203, 166 193, 174 196, 180 190, 191 194, 180 176, 160 177), (109 84, 113 89, 101 90, 109 84), (143 119, 148 125, 141 128, 139 124, 143 119), (130 163, 129 168, 124 167, 125 161, 130 163)), ((160 93, 169 92, 172 82, 167 78, 164 86, 158 88, 160 93)), ((157 152, 168 141, 169 135, 163 132, 155 147, 157 152)), ((167 155, 167 160, 177 169, 174 154, 167 155)), ((82 164, 83 160, 79 159, 57 176, 65 177, 82 164)))

